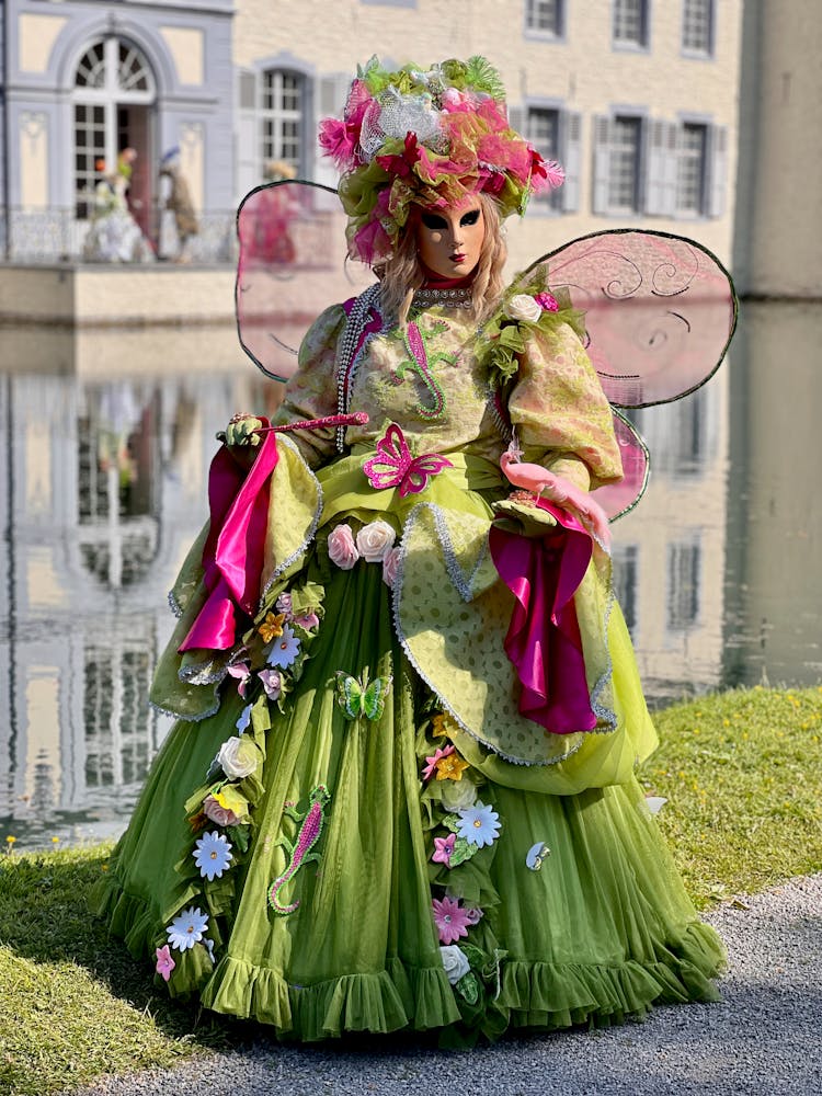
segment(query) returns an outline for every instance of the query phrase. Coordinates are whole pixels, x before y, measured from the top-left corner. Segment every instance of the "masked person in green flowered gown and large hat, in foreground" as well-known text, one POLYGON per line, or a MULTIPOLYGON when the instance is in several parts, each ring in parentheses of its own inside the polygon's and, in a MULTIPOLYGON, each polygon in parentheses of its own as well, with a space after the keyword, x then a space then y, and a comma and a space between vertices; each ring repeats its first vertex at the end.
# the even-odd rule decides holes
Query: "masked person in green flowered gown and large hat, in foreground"
POLYGON ((635 775, 610 406, 545 267, 502 279, 501 220, 561 170, 480 57, 373 59, 320 140, 379 277, 273 423, 226 429, 151 692, 178 722, 95 909, 171 994, 285 1039, 716 1000, 635 775))

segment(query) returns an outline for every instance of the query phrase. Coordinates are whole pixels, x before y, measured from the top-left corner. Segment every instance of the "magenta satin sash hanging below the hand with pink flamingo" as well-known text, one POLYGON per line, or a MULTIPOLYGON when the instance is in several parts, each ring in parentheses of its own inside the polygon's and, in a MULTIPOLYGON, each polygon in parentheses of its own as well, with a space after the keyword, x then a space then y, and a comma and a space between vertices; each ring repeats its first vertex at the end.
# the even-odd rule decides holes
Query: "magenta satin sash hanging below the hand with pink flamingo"
POLYGON ((522 684, 520 711, 551 734, 590 731, 596 716, 585 677, 573 595, 587 570, 593 543, 568 511, 537 505, 559 525, 544 537, 491 526, 489 546, 500 578, 516 598, 505 653, 522 684))

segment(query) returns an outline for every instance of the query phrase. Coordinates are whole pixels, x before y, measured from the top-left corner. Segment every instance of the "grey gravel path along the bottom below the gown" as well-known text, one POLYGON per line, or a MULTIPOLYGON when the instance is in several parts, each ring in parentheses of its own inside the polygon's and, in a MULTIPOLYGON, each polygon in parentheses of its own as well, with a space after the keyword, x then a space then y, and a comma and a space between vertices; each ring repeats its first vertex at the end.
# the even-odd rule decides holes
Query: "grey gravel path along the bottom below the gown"
POLYGON ((818 1096, 822 1092, 822 875, 706 917, 730 970, 723 1002, 655 1009, 643 1024, 509 1039, 468 1053, 386 1037, 366 1048, 201 1058, 73 1096, 818 1096))

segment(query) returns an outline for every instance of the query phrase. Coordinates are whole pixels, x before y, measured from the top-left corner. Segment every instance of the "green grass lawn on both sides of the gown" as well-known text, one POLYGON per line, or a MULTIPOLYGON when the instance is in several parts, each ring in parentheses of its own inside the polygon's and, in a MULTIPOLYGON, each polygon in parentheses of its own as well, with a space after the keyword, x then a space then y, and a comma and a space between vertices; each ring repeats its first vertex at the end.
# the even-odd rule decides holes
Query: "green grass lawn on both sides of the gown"
MULTIPOLYGON (((640 778, 669 800, 659 824, 698 906, 822 870, 822 688, 724 693, 655 719, 640 778)), ((0 1093, 48 1096, 253 1035, 171 1002, 107 940, 85 895, 110 852, 0 856, 0 1093)))

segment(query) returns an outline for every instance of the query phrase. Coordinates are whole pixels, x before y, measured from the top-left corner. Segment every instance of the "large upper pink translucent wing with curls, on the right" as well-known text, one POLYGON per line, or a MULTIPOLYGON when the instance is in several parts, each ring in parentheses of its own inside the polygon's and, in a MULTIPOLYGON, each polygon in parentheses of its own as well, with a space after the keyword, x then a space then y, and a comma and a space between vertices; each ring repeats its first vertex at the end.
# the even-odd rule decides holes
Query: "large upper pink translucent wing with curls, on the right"
POLYGON ((666 403, 704 385, 737 326, 728 271, 681 236, 614 229, 537 260, 585 313, 586 349, 618 407, 666 403))

